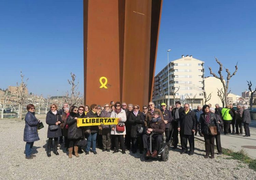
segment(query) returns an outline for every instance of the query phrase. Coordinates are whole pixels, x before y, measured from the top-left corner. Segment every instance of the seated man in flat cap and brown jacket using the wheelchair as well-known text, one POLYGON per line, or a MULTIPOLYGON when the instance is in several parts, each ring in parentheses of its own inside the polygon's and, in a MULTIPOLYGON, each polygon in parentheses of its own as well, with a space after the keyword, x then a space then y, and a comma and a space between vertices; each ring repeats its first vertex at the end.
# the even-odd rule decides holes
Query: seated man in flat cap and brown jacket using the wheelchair
POLYGON ((163 132, 165 132, 165 122, 161 119, 160 112, 154 111, 153 112, 153 119, 148 122, 146 127, 146 133, 143 134, 143 145, 146 150, 146 157, 157 156, 157 151, 160 149, 160 145, 162 142, 163 132), (150 144, 149 144, 149 138, 150 134, 154 133, 152 136, 152 140, 155 141, 155 147, 152 151, 152 154, 150 152, 150 144))

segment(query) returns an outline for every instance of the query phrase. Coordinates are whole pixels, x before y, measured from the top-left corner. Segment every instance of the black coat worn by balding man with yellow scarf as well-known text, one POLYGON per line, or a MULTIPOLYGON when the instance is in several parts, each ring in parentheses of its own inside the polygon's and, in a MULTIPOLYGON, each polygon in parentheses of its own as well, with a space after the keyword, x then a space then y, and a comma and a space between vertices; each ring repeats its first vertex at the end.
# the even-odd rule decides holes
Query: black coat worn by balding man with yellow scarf
POLYGON ((179 116, 178 128, 180 128, 180 134, 192 135, 192 129, 196 130, 195 112, 189 109, 187 114, 182 111, 179 116))

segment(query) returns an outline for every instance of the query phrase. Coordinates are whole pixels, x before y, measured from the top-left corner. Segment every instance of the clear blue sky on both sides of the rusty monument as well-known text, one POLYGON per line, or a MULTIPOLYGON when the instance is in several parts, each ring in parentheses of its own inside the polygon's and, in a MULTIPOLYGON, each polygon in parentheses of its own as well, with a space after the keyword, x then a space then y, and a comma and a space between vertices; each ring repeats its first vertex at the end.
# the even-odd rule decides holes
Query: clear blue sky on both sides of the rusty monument
MULTIPOLYGON (((207 66, 217 73, 214 56, 230 71, 238 61, 231 91, 241 95, 246 79, 255 87, 255 8, 253 0, 164 0, 156 73, 171 49, 169 61, 182 54, 205 61, 206 76, 207 66)), ((0 17, 1 88, 15 86, 22 70, 29 92, 61 95, 73 72, 83 92, 82 0, 0 0, 0 17)))

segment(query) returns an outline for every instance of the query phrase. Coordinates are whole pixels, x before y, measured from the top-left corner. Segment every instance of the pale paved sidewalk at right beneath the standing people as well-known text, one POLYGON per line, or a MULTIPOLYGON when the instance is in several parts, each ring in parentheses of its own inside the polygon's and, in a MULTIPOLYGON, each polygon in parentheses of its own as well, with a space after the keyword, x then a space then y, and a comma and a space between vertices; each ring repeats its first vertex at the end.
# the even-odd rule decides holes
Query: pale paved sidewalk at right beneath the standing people
MULTIPOLYGON (((235 152, 240 151, 243 149, 249 157, 252 159, 256 159, 256 121, 253 120, 252 124, 250 124, 250 137, 243 137, 243 135, 231 134, 231 135, 224 135, 221 134, 221 145, 223 148, 231 149, 235 152), (254 146, 252 148, 242 147, 242 146, 254 146)), ((231 128, 232 129, 232 128, 231 128)), ((244 129, 243 129, 244 132, 244 129)), ((204 140, 203 137, 195 136, 195 138, 204 140)), ((215 142, 216 145, 216 142, 215 142)))

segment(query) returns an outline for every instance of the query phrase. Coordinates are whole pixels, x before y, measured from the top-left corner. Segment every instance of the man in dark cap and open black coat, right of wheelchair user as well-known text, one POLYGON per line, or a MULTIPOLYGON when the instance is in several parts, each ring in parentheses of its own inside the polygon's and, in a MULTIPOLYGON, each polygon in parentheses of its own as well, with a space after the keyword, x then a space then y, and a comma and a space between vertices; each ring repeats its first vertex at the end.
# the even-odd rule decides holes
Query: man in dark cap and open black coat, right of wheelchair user
POLYGON ((178 134, 179 134, 179 131, 178 131, 178 122, 179 122, 179 119, 180 119, 180 113, 182 111, 184 111, 184 108, 181 107, 181 102, 180 101, 176 101, 175 102, 175 106, 176 108, 174 108, 172 110, 172 117, 173 117, 173 121, 172 121, 172 136, 173 136, 173 148, 172 149, 176 149, 177 148, 177 144, 179 143, 179 138, 178 138, 178 134))

